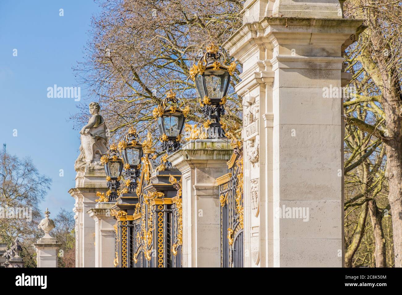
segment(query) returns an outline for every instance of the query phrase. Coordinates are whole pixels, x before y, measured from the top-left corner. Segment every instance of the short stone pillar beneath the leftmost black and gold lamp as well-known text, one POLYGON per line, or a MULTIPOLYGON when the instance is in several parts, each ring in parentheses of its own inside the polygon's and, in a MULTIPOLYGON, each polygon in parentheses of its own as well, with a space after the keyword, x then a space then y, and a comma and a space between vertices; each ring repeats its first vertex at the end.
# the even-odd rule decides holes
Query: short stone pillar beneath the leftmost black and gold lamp
POLYGON ((114 267, 116 220, 110 215, 115 203, 97 203, 88 214, 95 221, 95 267, 114 267))

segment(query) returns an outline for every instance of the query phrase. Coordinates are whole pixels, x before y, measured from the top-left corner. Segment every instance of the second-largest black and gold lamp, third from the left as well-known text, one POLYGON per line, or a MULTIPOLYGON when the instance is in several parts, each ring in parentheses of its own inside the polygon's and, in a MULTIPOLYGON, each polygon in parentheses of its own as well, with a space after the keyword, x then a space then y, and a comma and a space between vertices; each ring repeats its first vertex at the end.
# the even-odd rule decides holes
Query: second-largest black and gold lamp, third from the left
POLYGON ((166 98, 152 112, 154 119, 158 120, 160 140, 166 153, 172 153, 180 147, 184 119, 190 112, 189 106, 185 108, 183 106, 183 102, 170 90, 166 92, 166 98))

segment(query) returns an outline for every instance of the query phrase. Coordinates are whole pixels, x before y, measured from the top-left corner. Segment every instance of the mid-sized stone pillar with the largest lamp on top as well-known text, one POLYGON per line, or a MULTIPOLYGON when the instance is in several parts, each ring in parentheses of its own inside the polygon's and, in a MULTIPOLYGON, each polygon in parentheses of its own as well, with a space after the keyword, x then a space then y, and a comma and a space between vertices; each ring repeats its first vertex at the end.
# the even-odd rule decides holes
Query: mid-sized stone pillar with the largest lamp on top
POLYGON ((228 172, 228 140, 197 139, 168 157, 182 173, 183 267, 220 267, 220 203, 216 178, 228 172))

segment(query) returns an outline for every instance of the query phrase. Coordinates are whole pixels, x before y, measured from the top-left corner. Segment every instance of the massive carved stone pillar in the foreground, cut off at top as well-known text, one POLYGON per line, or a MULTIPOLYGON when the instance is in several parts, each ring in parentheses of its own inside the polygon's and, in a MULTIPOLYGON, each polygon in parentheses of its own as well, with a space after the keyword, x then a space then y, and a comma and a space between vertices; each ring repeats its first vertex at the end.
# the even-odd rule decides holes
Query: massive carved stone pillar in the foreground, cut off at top
POLYGON ((246 267, 343 264, 342 98, 324 96, 361 24, 338 0, 248 0, 224 44, 243 65, 246 267))

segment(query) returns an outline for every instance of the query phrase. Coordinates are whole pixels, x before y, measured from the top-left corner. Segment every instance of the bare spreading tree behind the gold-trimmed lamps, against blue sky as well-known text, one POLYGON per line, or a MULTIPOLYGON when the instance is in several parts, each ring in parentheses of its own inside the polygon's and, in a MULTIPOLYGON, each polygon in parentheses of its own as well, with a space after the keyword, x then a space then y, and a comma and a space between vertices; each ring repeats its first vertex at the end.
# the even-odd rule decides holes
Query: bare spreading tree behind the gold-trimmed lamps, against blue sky
MULTIPOLYGON (((240 26, 242 2, 112 0, 100 4, 103 13, 93 18, 86 60, 76 72, 92 94, 88 101, 100 102, 111 135, 127 132, 131 124, 139 131, 154 132, 152 110, 170 89, 191 107, 188 120, 200 122, 189 69, 210 42, 222 44, 240 26)), ((230 126, 242 122, 241 102, 233 89, 239 68, 232 75, 223 118, 230 126)), ((83 106, 74 116, 77 123, 85 120, 85 113, 83 106)))

